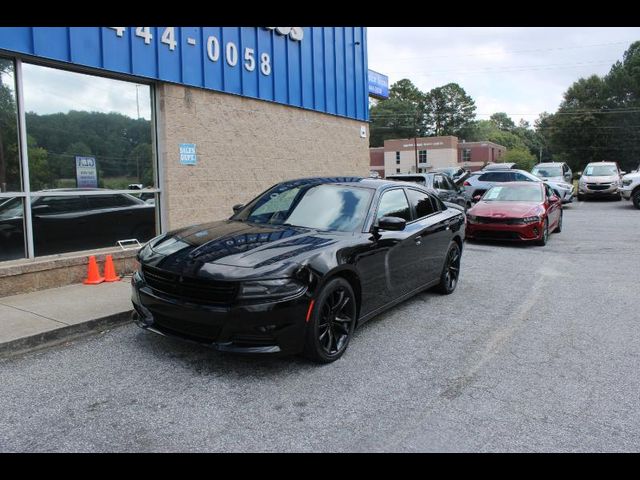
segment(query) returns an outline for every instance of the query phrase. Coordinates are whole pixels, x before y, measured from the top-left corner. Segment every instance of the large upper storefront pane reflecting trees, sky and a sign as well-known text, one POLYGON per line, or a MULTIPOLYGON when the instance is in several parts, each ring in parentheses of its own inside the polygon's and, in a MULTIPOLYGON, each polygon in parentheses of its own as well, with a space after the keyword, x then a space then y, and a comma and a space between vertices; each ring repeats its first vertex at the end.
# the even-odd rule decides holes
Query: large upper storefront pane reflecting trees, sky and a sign
POLYGON ((23 63, 32 191, 155 187, 151 88, 23 63))

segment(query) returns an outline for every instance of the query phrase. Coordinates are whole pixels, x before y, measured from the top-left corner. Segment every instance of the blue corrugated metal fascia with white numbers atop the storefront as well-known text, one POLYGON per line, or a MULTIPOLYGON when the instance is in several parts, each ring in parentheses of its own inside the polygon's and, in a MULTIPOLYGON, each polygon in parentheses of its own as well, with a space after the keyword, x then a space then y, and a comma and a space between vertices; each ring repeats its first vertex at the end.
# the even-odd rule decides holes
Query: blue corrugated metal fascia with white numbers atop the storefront
POLYGON ((0 27, 0 51, 369 118, 365 27, 0 27))

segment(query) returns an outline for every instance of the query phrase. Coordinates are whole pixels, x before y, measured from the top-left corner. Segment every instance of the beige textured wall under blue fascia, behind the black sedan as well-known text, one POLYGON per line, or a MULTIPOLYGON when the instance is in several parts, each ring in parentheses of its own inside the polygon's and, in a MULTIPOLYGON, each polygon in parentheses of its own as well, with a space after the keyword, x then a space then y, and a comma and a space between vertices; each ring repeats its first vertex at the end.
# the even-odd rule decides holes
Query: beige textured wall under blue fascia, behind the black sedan
POLYGON ((227 218, 282 180, 369 173, 366 122, 178 85, 157 95, 168 229, 227 218), (197 165, 180 164, 180 143, 197 165))

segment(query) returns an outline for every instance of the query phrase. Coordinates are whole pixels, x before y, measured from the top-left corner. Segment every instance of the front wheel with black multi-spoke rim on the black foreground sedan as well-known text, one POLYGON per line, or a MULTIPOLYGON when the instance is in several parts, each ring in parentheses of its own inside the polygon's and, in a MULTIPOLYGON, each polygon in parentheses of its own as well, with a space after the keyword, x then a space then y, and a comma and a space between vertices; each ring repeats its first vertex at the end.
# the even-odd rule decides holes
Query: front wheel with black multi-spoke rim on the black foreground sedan
POLYGON ((344 278, 330 280, 313 305, 305 332, 303 355, 317 363, 339 359, 356 325, 356 296, 344 278))

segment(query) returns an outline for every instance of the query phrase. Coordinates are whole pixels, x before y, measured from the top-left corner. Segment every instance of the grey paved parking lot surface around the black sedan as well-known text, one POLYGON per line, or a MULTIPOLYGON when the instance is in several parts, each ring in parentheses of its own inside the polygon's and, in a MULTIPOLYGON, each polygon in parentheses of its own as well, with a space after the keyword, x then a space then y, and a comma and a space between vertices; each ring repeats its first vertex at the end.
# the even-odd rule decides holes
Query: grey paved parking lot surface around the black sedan
POLYGON ((451 296, 339 361, 126 325, 0 362, 1 451, 638 451, 640 211, 580 202, 546 247, 467 244, 451 296))

